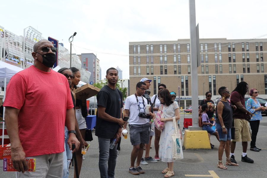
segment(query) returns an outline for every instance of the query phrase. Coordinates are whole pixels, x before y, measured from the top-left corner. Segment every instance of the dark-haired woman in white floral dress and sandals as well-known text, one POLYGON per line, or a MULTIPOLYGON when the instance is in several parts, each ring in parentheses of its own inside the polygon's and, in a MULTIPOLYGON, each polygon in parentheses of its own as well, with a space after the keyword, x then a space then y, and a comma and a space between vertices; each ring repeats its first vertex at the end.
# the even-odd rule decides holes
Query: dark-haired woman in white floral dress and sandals
POLYGON ((174 176, 173 163, 175 161, 175 159, 172 157, 173 139, 171 135, 174 133, 172 117, 175 117, 176 120, 179 120, 180 111, 178 103, 172 100, 169 90, 160 90, 158 93, 158 99, 161 101, 159 111, 162 109, 163 105, 162 111, 164 118, 161 118, 161 121, 165 122, 165 128, 160 134, 159 158, 161 158, 162 162, 167 162, 168 165, 168 167, 161 173, 165 174, 164 177, 172 177, 174 176))

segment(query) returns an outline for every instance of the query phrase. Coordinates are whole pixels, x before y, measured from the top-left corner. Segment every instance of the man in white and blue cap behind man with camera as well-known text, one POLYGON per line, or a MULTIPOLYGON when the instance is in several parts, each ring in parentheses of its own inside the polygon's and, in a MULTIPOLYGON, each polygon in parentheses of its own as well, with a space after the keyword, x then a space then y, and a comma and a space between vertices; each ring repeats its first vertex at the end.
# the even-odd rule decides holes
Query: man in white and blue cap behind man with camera
MULTIPOLYGON (((150 82, 152 80, 148 79, 148 78, 142 78, 140 80, 140 82, 144 82, 146 85, 147 85, 147 90, 150 89, 150 82)), ((152 104, 151 103, 151 99, 150 99, 150 96, 149 94, 147 93, 147 91, 145 91, 144 95, 143 95, 144 98, 147 99, 147 103, 148 104, 152 104)), ((152 105, 151 105, 152 107, 152 105)), ((151 109, 151 112, 153 113, 153 109, 151 109)), ((148 119, 148 122, 150 122, 150 118, 148 119)), ((154 129, 153 129, 154 130, 154 129)), ((151 145, 151 139, 152 139, 152 136, 155 135, 154 131, 151 131, 150 129, 150 139, 149 139, 149 144, 145 144, 145 149, 146 149, 146 153, 145 153, 145 158, 141 158, 141 162, 140 164, 148 164, 147 162, 151 162, 151 163, 156 163, 158 162, 157 160, 153 159, 150 155, 149 155, 149 152, 150 152, 150 145, 151 145)))

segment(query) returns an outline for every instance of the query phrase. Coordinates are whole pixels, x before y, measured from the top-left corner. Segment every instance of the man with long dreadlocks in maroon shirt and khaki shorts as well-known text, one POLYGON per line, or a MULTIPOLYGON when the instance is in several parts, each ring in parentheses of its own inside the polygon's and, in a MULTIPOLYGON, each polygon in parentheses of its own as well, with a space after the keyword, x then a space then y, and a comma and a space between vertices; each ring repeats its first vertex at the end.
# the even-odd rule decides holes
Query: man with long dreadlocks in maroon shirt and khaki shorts
POLYGON ((254 163, 254 160, 247 157, 247 142, 251 141, 248 121, 245 118, 252 113, 245 107, 244 96, 248 92, 248 84, 240 82, 231 93, 231 104, 236 105, 236 110, 233 111, 233 127, 235 128, 235 139, 231 142, 231 162, 236 163, 234 152, 236 142, 242 142, 243 152, 241 161, 254 163))

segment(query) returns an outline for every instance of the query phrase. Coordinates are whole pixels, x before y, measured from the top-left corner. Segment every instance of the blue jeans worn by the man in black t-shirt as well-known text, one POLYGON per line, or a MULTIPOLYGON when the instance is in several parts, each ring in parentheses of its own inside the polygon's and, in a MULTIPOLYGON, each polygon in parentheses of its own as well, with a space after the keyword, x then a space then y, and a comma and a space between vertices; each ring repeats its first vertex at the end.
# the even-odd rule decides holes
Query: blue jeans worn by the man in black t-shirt
POLYGON ((111 143, 112 140, 98 137, 98 144, 99 144, 98 167, 101 178, 114 178, 115 175, 118 144, 116 144, 112 150, 109 149, 109 144, 111 143))

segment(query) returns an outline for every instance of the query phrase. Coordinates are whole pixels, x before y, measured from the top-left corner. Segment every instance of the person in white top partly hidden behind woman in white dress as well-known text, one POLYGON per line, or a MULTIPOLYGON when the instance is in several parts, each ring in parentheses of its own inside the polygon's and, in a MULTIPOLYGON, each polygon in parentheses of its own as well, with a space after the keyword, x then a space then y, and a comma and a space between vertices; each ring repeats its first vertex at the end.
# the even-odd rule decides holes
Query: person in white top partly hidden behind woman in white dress
MULTIPOLYGON (((166 85, 164 85, 163 83, 158 85, 158 92, 160 92, 160 90, 162 90, 163 88, 166 89, 166 85)), ((160 107, 160 100, 158 99, 157 94, 152 96, 151 102, 152 102, 154 114, 156 114, 158 112, 159 107, 160 107), (155 104, 154 104, 154 102, 155 102, 155 104)), ((155 160, 160 160, 158 157, 158 149, 159 149, 159 140, 160 140, 160 133, 161 132, 156 127, 154 128, 154 132, 155 132, 155 140, 154 140, 155 160)))

